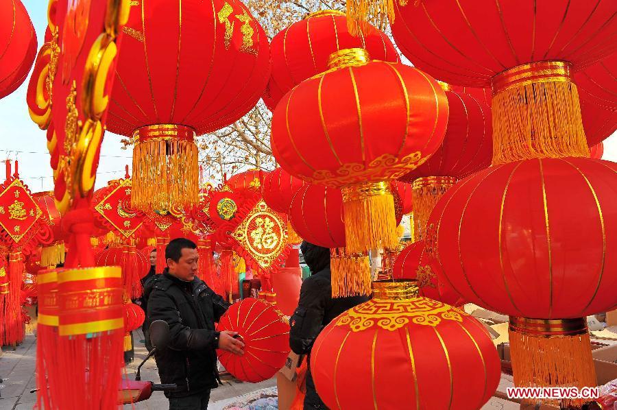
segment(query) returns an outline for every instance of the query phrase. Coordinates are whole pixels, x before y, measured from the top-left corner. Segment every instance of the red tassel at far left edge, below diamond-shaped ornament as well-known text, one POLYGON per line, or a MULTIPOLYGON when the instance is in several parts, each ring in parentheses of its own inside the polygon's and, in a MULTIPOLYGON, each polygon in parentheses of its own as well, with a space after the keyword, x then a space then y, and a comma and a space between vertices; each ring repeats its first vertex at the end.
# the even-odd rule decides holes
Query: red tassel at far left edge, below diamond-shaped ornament
POLYGON ((2 304, 3 344, 17 346, 24 337, 23 312, 19 293, 23 280, 23 255, 21 250, 12 250, 8 260, 8 293, 2 304))

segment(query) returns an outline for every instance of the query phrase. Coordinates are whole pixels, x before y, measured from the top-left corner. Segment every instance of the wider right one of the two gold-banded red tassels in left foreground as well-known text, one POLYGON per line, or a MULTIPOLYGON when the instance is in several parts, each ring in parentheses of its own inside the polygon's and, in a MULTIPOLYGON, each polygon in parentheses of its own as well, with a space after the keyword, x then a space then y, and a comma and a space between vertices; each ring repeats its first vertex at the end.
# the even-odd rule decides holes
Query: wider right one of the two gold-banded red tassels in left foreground
POLYGON ((58 306, 58 407, 116 407, 124 347, 121 269, 63 270, 58 274, 58 306))

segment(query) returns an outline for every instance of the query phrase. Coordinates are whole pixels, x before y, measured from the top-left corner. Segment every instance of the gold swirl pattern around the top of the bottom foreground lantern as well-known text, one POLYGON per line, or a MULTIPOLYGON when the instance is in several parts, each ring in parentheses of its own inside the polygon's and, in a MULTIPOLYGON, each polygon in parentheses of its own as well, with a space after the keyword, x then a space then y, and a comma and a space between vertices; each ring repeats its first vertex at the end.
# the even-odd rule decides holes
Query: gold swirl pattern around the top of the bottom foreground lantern
POLYGON ((340 315, 336 325, 348 326, 352 332, 374 327, 394 331, 409 322, 435 327, 442 320, 463 322, 463 317, 452 306, 428 298, 414 298, 406 302, 370 300, 340 315))

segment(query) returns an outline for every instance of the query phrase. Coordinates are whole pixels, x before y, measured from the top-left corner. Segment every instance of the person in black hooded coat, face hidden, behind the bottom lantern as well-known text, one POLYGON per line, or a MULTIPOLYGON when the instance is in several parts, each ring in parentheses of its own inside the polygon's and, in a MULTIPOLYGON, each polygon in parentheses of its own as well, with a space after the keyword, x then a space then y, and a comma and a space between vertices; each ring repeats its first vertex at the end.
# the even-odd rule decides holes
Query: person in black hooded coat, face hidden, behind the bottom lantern
MULTIPOLYGON (((300 300, 289 323, 289 346, 297 354, 308 354, 311 361, 311 348, 317 335, 324 326, 344 311, 356 304, 366 302, 365 296, 350 298, 332 298, 332 284, 330 282, 330 250, 304 241, 300 246, 304 262, 311 269, 311 276, 302 282, 300 300)), ((306 396, 304 409, 328 409, 317 395, 315 383, 311 376, 311 369, 306 374, 306 396)))

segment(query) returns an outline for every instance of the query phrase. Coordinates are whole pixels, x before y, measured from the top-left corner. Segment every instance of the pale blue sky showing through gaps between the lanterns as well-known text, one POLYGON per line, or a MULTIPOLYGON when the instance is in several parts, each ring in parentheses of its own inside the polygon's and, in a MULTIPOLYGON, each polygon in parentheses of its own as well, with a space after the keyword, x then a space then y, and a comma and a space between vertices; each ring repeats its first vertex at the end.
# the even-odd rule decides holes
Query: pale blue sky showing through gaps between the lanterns
MULTIPOLYGON (((47 1, 22 0, 34 23, 38 47, 43 44, 47 27, 47 1)), ((45 131, 30 120, 25 95, 27 81, 14 93, 0 99, 0 160, 19 160, 20 176, 33 192, 53 189, 49 153, 45 145, 45 131)), ((121 149, 121 136, 106 132, 101 147, 101 160, 97 171, 97 188, 108 180, 124 175, 125 165, 131 165, 132 149, 121 149)), ((604 159, 617 161, 617 136, 605 141, 604 159)), ((0 167, 0 169, 3 169, 0 167)), ((0 175, 0 178, 3 178, 0 175)))

